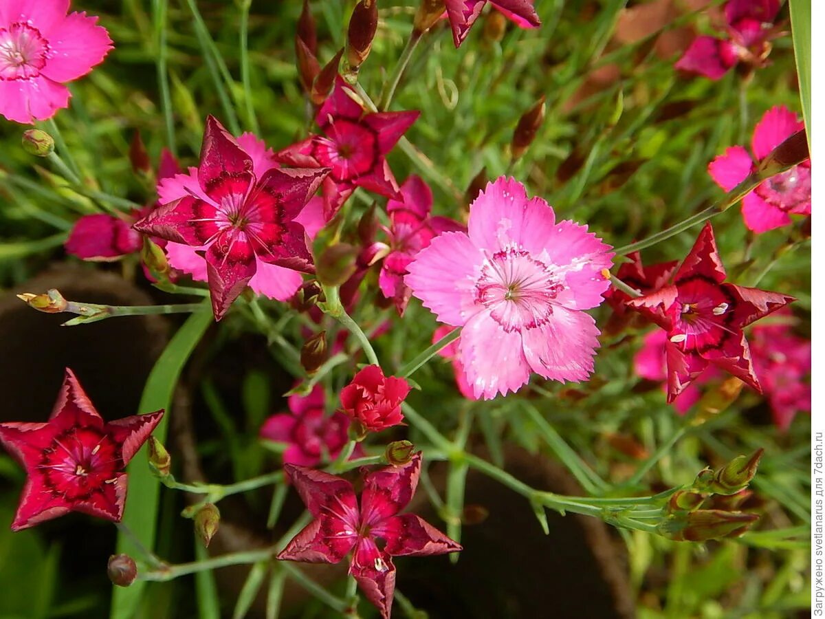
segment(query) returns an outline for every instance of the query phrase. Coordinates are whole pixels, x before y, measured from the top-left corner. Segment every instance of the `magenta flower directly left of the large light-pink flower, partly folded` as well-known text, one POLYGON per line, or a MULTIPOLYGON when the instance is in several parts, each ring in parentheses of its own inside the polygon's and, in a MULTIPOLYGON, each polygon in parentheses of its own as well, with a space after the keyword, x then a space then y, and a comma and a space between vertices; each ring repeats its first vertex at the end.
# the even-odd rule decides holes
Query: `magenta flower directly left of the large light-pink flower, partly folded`
POLYGON ((442 232, 464 229, 449 217, 431 217, 432 191, 420 177, 411 176, 401 186, 401 200, 389 200, 390 252, 381 265, 378 278, 381 292, 393 299, 398 315, 403 315, 410 299, 410 289, 404 284, 407 265, 416 254, 442 232))

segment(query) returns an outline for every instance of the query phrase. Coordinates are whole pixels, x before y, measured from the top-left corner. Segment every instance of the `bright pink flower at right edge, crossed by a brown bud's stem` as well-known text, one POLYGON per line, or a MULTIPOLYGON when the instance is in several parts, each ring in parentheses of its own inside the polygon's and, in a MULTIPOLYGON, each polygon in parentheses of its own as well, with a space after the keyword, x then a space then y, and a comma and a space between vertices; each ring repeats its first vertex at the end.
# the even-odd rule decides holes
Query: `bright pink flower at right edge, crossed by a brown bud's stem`
MULTIPOLYGON (((771 107, 753 130, 751 149, 757 162, 790 138, 804 123, 785 106, 771 107)), ((708 166, 719 187, 731 191, 757 165, 742 146, 731 146, 708 166)), ((811 160, 805 159, 787 172, 777 174, 742 198, 742 218, 748 229, 766 232, 791 223, 789 214, 811 214, 811 160)))

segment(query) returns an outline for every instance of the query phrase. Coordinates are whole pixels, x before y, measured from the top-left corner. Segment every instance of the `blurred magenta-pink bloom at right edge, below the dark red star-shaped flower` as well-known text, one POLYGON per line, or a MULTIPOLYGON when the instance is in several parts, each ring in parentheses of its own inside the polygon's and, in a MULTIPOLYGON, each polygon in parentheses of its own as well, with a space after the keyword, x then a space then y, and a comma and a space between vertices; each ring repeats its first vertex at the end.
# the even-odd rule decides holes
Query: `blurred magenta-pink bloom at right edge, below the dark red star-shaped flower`
POLYGON ((774 422, 785 432, 797 412, 811 412, 811 342, 786 324, 760 325, 751 332, 751 352, 774 422))

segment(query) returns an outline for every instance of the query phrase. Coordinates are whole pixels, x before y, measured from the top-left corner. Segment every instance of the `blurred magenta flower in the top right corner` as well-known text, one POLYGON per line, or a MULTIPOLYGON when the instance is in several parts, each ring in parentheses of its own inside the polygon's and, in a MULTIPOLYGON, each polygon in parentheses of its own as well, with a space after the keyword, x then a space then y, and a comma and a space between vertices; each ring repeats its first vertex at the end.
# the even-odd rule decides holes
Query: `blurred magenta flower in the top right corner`
POLYGON ((765 64, 775 36, 771 24, 779 0, 728 0, 724 6, 726 38, 697 36, 676 63, 676 69, 719 79, 738 62, 765 64))

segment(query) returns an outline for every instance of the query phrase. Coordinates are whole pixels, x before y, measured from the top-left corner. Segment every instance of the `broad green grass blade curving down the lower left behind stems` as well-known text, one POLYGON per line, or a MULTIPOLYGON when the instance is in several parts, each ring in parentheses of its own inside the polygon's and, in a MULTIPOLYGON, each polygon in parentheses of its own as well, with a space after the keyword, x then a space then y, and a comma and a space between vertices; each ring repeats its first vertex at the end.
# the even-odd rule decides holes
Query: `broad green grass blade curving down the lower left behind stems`
MULTIPOLYGON (((207 299, 204 303, 209 304, 210 300, 207 299)), ((212 324, 211 312, 192 314, 167 344, 146 381, 138 411, 148 413, 158 409, 167 410, 167 414, 163 416, 163 420, 154 431, 154 436, 160 442, 166 440, 169 404, 172 402, 172 393, 181 376, 181 370, 210 324, 212 324)), ((129 472, 129 495, 123 522, 144 546, 152 550, 157 527, 160 484, 149 471, 145 446, 134 457, 127 471, 129 472)), ((139 550, 134 543, 122 533, 118 534, 117 553, 140 557, 139 550)), ((115 587, 112 593, 111 618, 130 619, 133 617, 145 586, 144 582, 136 581, 128 588, 115 587)))

